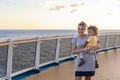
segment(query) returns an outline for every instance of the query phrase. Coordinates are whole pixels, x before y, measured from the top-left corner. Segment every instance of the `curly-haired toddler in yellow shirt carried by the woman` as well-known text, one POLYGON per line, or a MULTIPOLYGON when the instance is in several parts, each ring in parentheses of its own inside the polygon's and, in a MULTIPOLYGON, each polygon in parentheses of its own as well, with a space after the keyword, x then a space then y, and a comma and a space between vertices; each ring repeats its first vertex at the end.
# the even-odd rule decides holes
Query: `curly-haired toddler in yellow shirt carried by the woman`
MULTIPOLYGON (((90 49, 91 47, 97 46, 97 44, 99 43, 99 40, 97 38, 97 36, 98 36, 98 28, 96 26, 90 26, 90 27, 87 28, 87 30, 88 30, 89 38, 85 42, 85 44, 82 46, 82 48, 90 49)), ((85 63, 84 53, 80 53, 80 63, 79 63, 78 66, 80 67, 84 63, 85 63)), ((95 68, 98 68, 97 60, 95 61, 95 68)))

